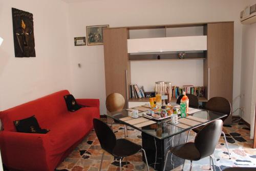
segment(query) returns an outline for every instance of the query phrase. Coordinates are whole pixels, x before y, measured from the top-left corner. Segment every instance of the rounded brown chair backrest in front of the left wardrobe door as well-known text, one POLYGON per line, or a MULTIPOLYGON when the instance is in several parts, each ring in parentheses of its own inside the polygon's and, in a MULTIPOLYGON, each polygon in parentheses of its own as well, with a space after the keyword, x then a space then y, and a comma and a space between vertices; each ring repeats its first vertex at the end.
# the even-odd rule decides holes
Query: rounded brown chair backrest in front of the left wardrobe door
POLYGON ((122 110, 125 104, 124 97, 119 93, 111 93, 106 97, 106 109, 109 112, 122 110))

